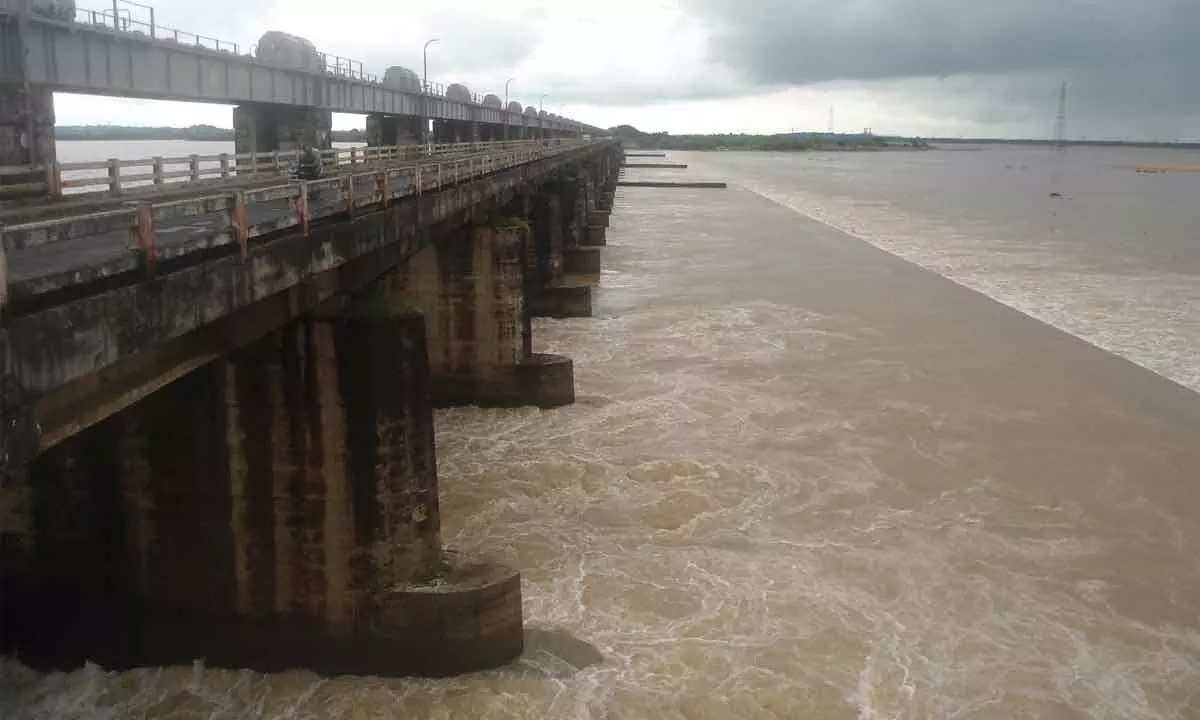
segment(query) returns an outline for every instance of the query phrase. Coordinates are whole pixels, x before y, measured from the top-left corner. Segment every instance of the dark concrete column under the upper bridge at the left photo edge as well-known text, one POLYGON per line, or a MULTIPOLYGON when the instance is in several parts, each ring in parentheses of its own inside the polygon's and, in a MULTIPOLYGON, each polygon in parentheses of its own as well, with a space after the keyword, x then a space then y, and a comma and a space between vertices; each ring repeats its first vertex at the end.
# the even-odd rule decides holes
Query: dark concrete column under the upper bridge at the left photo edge
POLYGON ((0 167, 29 168, 0 173, 0 197, 43 194, 40 190, 6 192, 5 186, 46 182, 46 168, 54 161, 54 92, 41 85, 0 85, 0 167))

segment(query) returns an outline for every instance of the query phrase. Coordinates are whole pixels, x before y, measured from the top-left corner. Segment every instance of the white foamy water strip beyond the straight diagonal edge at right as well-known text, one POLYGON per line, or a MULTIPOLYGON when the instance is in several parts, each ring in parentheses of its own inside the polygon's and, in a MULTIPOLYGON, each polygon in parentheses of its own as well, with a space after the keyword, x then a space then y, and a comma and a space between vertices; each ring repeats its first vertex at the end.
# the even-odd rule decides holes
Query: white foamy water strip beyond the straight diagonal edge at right
POLYGON ((1010 242, 1014 229, 1008 227, 815 192, 767 175, 743 172, 737 184, 1200 391, 1200 283, 1195 275, 1145 266, 1123 272, 1092 270, 1081 266, 1079 257, 1060 251, 1052 236, 1031 247, 1010 242))

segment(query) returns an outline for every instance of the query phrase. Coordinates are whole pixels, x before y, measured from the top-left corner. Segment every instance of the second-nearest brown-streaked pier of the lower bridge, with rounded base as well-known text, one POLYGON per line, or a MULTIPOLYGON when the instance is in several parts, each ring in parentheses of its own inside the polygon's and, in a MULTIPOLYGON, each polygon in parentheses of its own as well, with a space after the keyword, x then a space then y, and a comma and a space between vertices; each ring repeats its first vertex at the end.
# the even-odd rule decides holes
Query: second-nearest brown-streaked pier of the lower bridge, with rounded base
POLYGON ((391 296, 425 316, 439 407, 575 402, 570 359, 533 353, 526 234, 520 223, 458 230, 385 280, 391 296))

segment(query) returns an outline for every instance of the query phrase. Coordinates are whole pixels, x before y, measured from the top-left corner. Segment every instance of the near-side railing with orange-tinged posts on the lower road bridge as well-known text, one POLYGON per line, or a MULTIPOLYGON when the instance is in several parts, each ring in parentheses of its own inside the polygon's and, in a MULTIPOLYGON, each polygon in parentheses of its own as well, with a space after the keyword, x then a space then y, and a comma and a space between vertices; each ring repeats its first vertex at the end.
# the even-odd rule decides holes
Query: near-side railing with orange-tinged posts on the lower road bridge
POLYGON ((126 203, 114 210, 0 227, 0 306, 8 300, 8 253, 68 240, 119 233, 148 268, 157 259, 155 228, 182 218, 216 218, 212 245, 235 242, 245 257, 248 242, 277 230, 365 209, 386 209, 409 196, 421 196, 460 182, 583 148, 589 140, 498 143, 486 152, 462 157, 426 157, 396 167, 355 169, 331 178, 288 181, 269 187, 212 192, 185 199, 126 203), (252 222, 252 218, 256 218, 252 222))

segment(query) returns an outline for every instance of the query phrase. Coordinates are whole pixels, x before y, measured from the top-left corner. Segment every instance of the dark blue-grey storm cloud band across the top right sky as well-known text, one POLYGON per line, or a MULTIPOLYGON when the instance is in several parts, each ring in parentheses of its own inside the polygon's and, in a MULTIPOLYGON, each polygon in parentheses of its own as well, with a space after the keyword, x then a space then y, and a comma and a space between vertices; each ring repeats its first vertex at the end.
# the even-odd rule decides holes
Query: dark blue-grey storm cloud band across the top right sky
POLYGON ((1200 60, 1196 0, 684 0, 715 59, 806 84, 1200 60))

